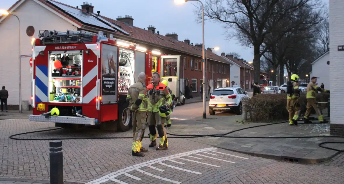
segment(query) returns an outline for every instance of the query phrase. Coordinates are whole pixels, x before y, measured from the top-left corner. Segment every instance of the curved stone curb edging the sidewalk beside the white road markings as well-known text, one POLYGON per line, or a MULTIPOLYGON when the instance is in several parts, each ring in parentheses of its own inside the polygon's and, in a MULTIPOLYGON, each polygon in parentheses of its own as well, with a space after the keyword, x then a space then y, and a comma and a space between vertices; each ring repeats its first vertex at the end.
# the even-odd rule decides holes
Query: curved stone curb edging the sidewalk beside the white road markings
POLYGON ((331 160, 333 157, 337 156, 340 152, 336 152, 335 154, 325 157, 325 158, 317 158, 317 159, 307 159, 307 158, 300 158, 300 157, 293 157, 293 156, 284 156, 284 155, 276 155, 276 154, 265 154, 261 152, 252 152, 252 151, 243 151, 243 150, 235 150, 229 149, 223 146, 216 146, 214 147, 221 148, 228 151, 234 151, 238 153, 244 153, 251 156, 258 156, 265 159, 273 159, 273 160, 280 160, 280 161, 288 161, 288 162, 295 162, 295 163, 303 163, 303 164, 317 164, 322 163, 328 160, 331 160))

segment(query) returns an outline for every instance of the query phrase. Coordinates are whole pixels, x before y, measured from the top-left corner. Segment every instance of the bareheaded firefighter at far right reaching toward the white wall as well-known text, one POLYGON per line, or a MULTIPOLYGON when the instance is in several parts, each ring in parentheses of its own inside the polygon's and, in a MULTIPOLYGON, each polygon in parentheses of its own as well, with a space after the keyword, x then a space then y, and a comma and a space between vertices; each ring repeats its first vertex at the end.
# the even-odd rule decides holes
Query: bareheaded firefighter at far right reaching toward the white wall
POLYGON ((330 90, 325 90, 318 85, 316 85, 316 77, 312 77, 311 82, 307 85, 307 111, 304 115, 304 123, 312 123, 309 121, 309 115, 311 114, 312 107, 314 108, 316 114, 318 114, 318 120, 320 123, 327 123, 328 121, 324 120, 322 111, 320 109, 319 103, 316 101, 317 91, 330 93, 330 90))

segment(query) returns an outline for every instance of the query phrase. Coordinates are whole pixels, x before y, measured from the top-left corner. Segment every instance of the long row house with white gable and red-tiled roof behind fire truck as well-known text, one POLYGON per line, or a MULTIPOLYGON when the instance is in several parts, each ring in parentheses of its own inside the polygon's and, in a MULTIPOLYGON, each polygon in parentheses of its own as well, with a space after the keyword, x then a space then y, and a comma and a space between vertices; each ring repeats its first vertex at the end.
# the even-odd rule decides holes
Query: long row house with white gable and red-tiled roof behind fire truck
MULTIPOLYGON (((75 3, 73 1, 73 3, 75 3)), ((19 17, 21 22, 21 54, 31 53, 31 39, 38 38, 39 30, 85 30, 94 33, 103 31, 106 37, 113 35, 116 39, 134 42, 148 50, 157 51, 161 55, 180 55, 182 62, 177 66, 177 70, 183 73, 182 78, 186 84, 193 84, 193 95, 200 96, 200 84, 202 84, 202 46, 190 43, 189 39, 178 40, 178 34, 167 33, 161 35, 159 31, 150 25, 148 28, 138 28, 134 25, 131 16, 118 16, 111 19, 101 15, 100 11, 95 12, 92 4, 80 1, 78 6, 69 6, 53 0, 18 0, 8 10, 19 17), (74 13, 72 13, 74 12, 74 13), (87 19, 76 18, 75 14, 80 14, 87 19), (92 23, 89 20, 94 20, 92 23), (120 28, 115 30, 112 25, 120 28), (125 34, 124 32, 128 33, 125 34), (179 69, 178 69, 179 67, 179 69)), ((0 49, 1 64, 8 67, 0 68, 1 85, 5 85, 10 95, 8 104, 18 105, 18 42, 13 41, 18 38, 18 20, 14 16, 0 17, 0 39, 6 43, 7 47, 0 49)), ((212 88, 227 86, 229 81, 230 63, 211 50, 207 50, 208 63, 207 79, 210 80, 212 88), (210 67, 212 71, 209 71, 210 67)), ((160 56, 160 55, 159 55, 160 56)), ((159 57, 157 56, 157 57, 159 57)), ((30 57, 21 58, 22 69, 22 100, 31 103, 31 78, 32 68, 29 65, 30 57)), ((23 108, 25 109, 25 108, 23 108)))

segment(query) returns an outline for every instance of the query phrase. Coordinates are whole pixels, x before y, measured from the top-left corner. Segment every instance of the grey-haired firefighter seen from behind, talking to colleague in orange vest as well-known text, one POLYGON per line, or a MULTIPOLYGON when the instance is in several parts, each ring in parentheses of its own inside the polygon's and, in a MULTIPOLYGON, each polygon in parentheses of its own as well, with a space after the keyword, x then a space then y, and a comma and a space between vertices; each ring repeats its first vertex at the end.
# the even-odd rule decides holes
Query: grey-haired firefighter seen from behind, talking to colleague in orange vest
POLYGON ((133 142, 131 154, 133 156, 144 156, 142 152, 148 150, 141 145, 144 130, 147 124, 147 88, 144 85, 146 81, 146 74, 141 72, 138 81, 132 84, 128 89, 127 101, 129 102, 129 110, 132 112, 132 129, 133 142))

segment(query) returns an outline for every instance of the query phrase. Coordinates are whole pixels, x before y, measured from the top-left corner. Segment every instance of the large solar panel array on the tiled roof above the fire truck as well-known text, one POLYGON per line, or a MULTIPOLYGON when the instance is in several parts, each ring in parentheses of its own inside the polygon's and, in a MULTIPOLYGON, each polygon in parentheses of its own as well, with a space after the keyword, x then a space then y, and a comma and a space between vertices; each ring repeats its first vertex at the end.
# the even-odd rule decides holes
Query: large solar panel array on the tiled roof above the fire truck
POLYGON ((68 6, 65 6, 63 4, 60 4, 60 3, 57 3, 54 1, 49 0, 49 2, 52 3, 54 6, 62 9, 66 13, 70 14, 72 17, 80 20, 83 23, 91 24, 91 25, 95 25, 98 27, 102 27, 102 28, 116 31, 114 28, 111 28, 110 26, 106 25, 105 23, 99 21, 96 17, 93 17, 93 16, 91 16, 91 15, 89 15, 89 14, 87 14, 81 10, 78 10, 78 9, 75 9, 72 7, 68 7, 68 6))

